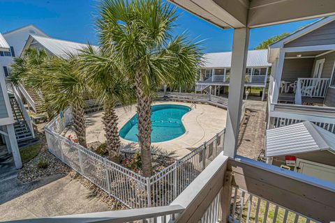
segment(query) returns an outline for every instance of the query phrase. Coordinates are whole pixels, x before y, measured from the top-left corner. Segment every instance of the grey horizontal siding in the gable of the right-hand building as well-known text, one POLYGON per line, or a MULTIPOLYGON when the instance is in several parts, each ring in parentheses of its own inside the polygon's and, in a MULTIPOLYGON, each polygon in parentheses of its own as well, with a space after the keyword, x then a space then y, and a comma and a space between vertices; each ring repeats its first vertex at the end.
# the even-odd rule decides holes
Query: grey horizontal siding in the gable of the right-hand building
POLYGON ((285 44, 285 47, 304 47, 329 44, 335 44, 335 21, 285 44))

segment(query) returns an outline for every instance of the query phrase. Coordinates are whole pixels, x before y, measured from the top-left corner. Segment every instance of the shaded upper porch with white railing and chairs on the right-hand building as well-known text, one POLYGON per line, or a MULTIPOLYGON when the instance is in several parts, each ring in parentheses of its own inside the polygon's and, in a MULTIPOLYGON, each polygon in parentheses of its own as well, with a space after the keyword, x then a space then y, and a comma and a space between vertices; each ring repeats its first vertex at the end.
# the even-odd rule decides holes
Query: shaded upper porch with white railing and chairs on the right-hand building
POLYGON ((325 58, 322 57, 327 54, 332 54, 332 50, 285 52, 278 102, 322 105, 330 84, 329 73, 324 72, 325 58))

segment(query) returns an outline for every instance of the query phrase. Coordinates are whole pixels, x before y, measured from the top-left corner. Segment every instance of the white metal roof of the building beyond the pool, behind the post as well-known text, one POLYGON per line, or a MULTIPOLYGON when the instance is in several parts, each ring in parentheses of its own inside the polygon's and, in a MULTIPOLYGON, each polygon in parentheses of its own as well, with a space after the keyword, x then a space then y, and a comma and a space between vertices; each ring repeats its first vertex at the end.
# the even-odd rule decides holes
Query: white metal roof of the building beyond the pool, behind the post
MULTIPOLYGON (((230 68, 232 62, 232 52, 207 53, 202 56, 204 68, 230 68)), ((249 50, 246 66, 269 67, 267 63, 267 49, 249 50)))

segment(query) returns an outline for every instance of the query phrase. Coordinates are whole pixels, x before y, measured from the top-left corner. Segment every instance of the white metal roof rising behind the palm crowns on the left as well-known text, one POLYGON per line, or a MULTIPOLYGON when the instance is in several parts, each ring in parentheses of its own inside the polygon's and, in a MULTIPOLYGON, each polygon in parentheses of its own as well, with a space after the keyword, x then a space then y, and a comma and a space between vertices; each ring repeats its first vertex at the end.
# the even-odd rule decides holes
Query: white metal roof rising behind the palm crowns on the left
MULTIPOLYGON (((66 40, 59 40, 55 38, 48 38, 42 36, 31 35, 31 38, 34 38, 40 45, 43 45, 45 49, 59 57, 67 57, 68 54, 79 54, 79 49, 87 47, 87 44, 84 43, 75 43, 66 40)), ((97 47, 97 46, 94 46, 97 47)))

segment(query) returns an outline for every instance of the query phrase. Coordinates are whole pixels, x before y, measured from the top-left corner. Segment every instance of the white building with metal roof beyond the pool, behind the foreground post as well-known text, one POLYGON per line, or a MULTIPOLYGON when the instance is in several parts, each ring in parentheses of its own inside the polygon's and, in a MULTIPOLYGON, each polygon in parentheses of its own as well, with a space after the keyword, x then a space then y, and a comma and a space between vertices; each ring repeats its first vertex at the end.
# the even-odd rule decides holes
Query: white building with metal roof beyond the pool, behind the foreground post
MULTIPOLYGON (((211 86, 216 95, 222 86, 229 86, 232 52, 207 53, 202 56, 202 61, 203 65, 195 91, 202 92, 211 86)), ((248 51, 244 85, 262 89, 262 99, 265 97, 267 74, 270 67, 271 63, 267 61, 267 49, 248 51)))

